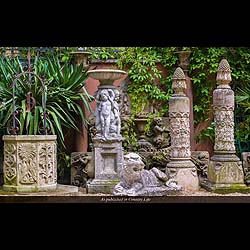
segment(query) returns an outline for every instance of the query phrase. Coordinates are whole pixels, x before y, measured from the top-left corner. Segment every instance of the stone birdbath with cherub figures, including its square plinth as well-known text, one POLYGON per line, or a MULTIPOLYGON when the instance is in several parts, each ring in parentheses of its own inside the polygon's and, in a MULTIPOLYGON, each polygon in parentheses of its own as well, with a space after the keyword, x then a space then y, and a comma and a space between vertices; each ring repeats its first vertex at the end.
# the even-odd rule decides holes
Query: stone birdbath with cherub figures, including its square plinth
POLYGON ((126 72, 115 69, 89 70, 90 77, 99 80, 95 94, 95 137, 93 162, 95 178, 87 184, 88 193, 112 193, 120 181, 123 162, 119 91, 113 85, 126 72))

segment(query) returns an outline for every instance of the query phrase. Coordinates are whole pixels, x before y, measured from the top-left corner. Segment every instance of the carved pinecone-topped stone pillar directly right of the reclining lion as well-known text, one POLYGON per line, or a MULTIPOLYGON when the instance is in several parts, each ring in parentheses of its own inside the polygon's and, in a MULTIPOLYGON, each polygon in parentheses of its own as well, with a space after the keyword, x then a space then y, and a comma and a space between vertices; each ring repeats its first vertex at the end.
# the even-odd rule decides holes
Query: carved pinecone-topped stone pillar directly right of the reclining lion
POLYGON ((174 72, 172 88, 174 94, 169 100, 171 149, 166 172, 183 189, 196 191, 199 189, 199 180, 196 167, 191 161, 190 104, 184 93, 187 88, 186 78, 180 67, 174 72))

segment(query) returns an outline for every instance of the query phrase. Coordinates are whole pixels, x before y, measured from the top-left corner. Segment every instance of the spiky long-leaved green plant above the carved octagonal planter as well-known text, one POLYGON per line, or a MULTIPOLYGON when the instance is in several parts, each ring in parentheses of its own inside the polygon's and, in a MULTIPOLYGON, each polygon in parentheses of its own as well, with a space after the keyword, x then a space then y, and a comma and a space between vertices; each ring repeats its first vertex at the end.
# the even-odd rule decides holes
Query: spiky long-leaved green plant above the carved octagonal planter
MULTIPOLYGON (((61 62, 55 55, 36 57, 33 70, 43 80, 46 89, 46 110, 48 117, 47 126, 52 134, 57 135, 58 144, 58 168, 68 167, 69 157, 65 153, 65 135, 69 129, 78 130, 77 117, 84 124, 87 118, 83 112, 83 106, 91 112, 89 102, 93 100, 85 87, 87 70, 83 65, 76 66, 70 61, 61 62), (61 159, 62 158, 62 159, 61 159)), ((0 58, 0 129, 6 133, 7 123, 13 111, 11 85, 17 74, 24 72, 24 66, 18 57, 0 58)), ((36 77, 29 79, 29 74, 18 78, 15 87, 15 106, 20 110, 20 133, 36 135, 43 124, 43 87, 36 77), (26 94, 32 93, 36 103, 29 112, 26 107, 26 94)))

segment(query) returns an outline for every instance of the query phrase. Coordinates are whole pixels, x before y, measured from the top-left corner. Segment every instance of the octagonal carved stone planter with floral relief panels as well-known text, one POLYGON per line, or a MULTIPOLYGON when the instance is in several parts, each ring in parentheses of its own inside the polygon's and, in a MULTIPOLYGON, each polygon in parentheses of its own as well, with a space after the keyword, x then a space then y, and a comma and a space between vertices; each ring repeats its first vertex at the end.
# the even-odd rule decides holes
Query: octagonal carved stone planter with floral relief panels
POLYGON ((5 191, 54 191, 57 187, 56 135, 4 135, 5 191))

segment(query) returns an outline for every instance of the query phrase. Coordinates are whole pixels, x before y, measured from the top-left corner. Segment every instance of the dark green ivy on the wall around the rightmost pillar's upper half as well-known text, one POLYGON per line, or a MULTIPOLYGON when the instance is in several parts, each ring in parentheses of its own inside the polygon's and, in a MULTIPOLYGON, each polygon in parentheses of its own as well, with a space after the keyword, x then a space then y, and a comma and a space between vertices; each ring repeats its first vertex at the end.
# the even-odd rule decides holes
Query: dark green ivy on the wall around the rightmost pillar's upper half
MULTIPOLYGON (((226 58, 230 64, 232 82, 235 91, 235 139, 249 140, 248 127, 250 119, 249 108, 246 107, 246 96, 249 95, 250 85, 250 48, 248 47, 212 47, 193 48, 190 58, 189 75, 193 80, 194 119, 195 124, 209 119, 212 112, 212 93, 216 87, 216 74, 219 62, 226 58), (241 98, 239 98, 241 96, 241 98), (244 100, 244 101, 243 101, 244 100)), ((212 125, 212 120, 211 120, 212 125)), ((211 137, 211 128, 201 132, 200 138, 211 137), (208 133, 208 131, 210 131, 208 133)), ((214 133, 212 133, 214 136, 214 133)), ((213 141, 213 138, 210 138, 213 141)))

